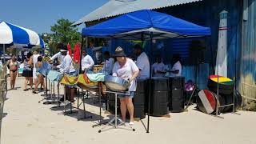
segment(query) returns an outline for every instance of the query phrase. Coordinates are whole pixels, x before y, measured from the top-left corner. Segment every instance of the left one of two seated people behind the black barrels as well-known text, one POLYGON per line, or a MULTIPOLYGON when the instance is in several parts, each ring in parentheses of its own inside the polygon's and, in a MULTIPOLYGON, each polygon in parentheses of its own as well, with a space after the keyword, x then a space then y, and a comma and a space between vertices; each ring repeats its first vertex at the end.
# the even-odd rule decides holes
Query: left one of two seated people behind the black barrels
POLYGON ((153 77, 164 77, 165 64, 162 62, 161 56, 157 56, 156 62, 152 65, 153 77))

